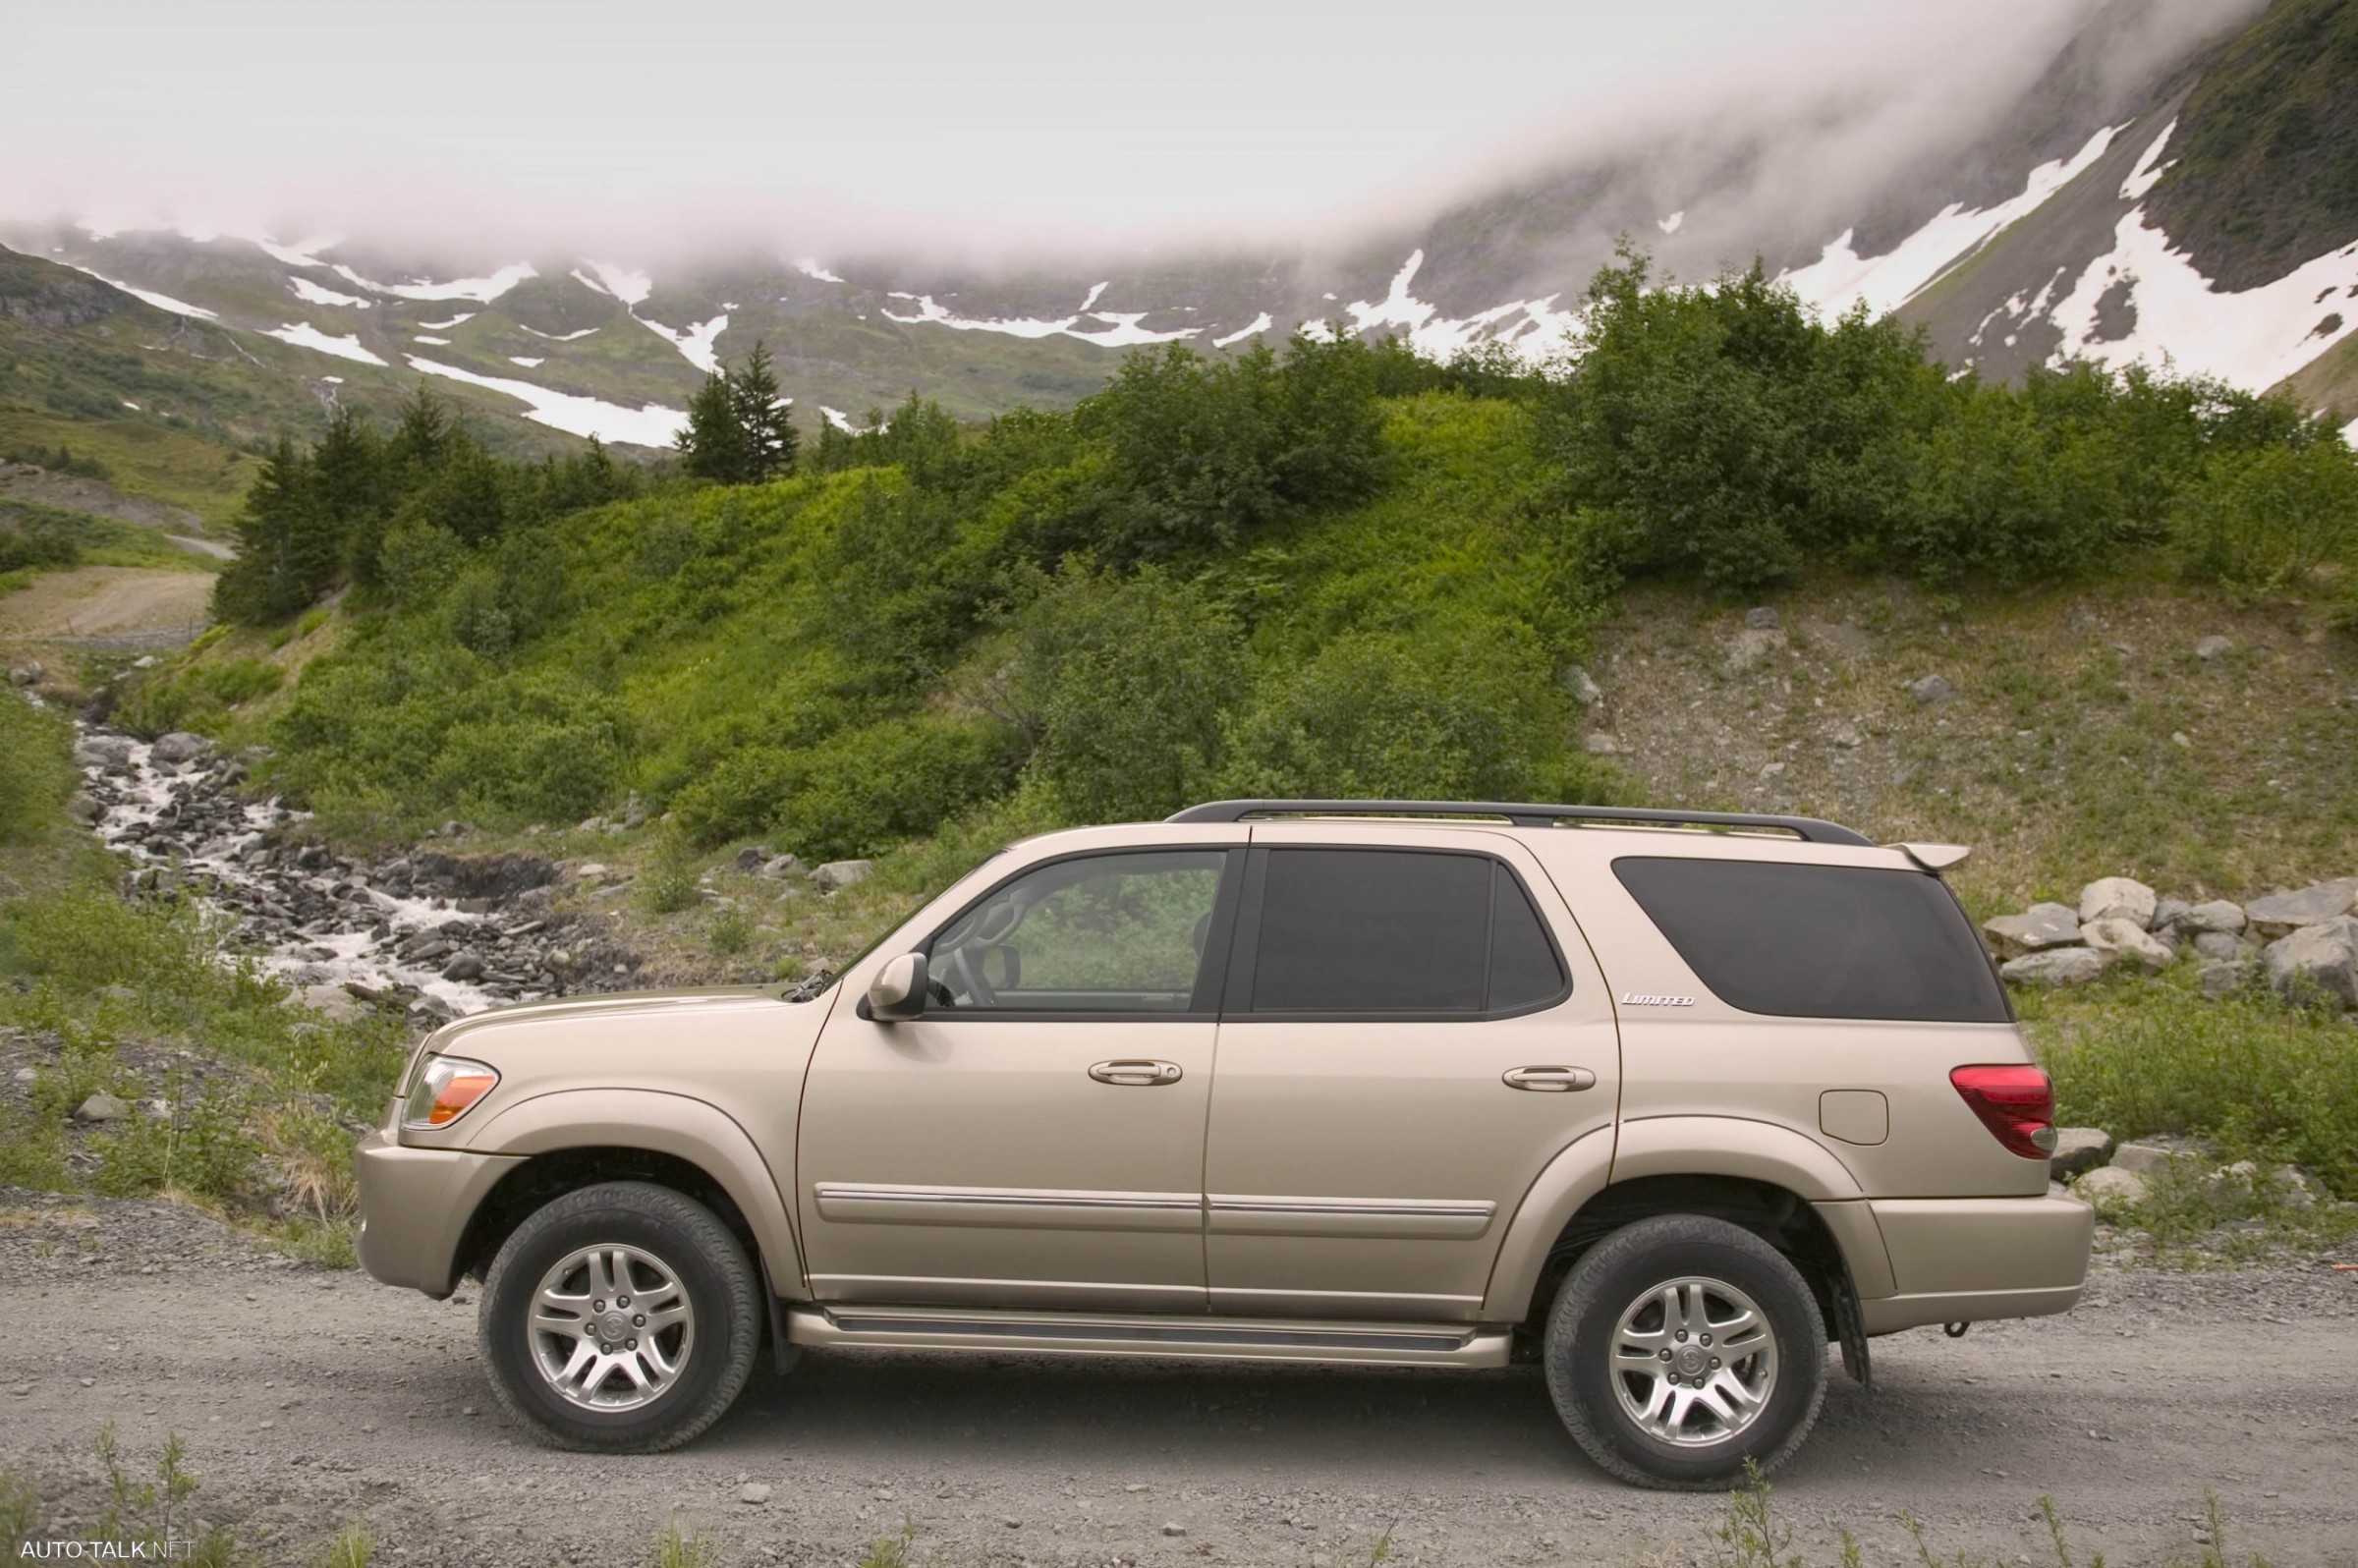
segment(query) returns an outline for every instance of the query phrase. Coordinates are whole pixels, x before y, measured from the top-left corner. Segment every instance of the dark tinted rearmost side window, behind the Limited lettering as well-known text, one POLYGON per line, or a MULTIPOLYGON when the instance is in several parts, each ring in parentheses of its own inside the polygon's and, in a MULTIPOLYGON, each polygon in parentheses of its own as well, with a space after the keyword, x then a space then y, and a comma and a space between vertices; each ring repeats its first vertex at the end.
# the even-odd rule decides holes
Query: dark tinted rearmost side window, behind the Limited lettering
POLYGON ((1787 1019, 2004 1023, 2007 997, 1938 877, 1865 865, 1613 861, 1712 993, 1787 1019))

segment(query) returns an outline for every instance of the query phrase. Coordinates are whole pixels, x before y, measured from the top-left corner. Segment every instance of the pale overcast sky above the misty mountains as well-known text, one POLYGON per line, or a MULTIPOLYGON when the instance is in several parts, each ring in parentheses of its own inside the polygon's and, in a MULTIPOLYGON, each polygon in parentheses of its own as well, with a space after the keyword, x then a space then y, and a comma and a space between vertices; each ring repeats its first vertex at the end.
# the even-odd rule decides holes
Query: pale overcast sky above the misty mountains
POLYGON ((1606 106, 2042 9, 2082 5, 0 0, 0 215, 1271 233, 1559 151, 1606 106))

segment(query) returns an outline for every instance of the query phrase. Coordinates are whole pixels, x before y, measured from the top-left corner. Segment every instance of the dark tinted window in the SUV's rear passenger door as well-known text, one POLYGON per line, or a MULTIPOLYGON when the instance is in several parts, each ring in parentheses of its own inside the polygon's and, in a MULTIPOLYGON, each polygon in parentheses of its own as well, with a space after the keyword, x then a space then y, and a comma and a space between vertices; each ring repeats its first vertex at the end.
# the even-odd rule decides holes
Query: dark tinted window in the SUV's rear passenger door
POLYGON ((1271 849, 1254 1014, 1483 1016, 1563 995, 1563 962, 1490 856, 1271 849))

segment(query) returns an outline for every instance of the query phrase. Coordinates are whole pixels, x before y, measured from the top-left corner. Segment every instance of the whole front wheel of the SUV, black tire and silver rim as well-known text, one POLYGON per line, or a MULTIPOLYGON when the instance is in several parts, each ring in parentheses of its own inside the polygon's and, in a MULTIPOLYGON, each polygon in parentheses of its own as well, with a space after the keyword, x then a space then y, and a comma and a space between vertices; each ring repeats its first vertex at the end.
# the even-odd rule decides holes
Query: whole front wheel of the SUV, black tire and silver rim
POLYGON ((493 1391, 559 1448, 658 1452, 717 1422, 752 1372, 762 1302, 712 1210, 606 1181, 533 1212, 483 1278, 493 1391))

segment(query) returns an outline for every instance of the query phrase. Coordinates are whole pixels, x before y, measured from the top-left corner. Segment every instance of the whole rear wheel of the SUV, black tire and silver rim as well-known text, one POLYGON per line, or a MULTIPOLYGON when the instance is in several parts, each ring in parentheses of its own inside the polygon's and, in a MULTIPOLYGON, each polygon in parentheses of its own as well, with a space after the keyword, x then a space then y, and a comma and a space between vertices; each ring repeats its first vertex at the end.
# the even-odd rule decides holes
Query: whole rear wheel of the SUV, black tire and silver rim
POLYGON ((1547 1316, 1547 1391, 1599 1469, 1710 1490, 1773 1469, 1818 1422, 1825 1318, 1768 1243, 1700 1214, 1641 1219, 1573 1266, 1547 1316))

